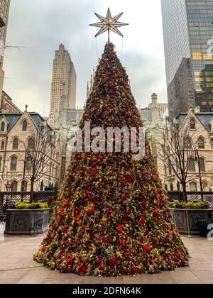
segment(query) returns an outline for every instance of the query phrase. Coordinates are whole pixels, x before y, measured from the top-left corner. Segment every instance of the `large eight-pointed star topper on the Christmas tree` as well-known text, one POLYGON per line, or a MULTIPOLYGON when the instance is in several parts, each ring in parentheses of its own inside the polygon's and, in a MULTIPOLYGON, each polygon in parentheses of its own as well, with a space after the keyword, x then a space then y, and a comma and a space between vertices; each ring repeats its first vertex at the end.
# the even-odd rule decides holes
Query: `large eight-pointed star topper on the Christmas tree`
POLYGON ((100 16, 98 13, 94 13, 97 18, 99 18, 99 23, 93 23, 89 26, 94 26, 100 28, 99 32, 95 35, 97 37, 98 35, 101 35, 102 33, 108 31, 108 43, 109 43, 109 31, 112 31, 114 33, 117 33, 123 37, 123 34, 121 31, 119 31, 119 27, 128 26, 127 23, 121 23, 118 22, 119 18, 121 18, 123 13, 119 13, 117 16, 114 16, 114 18, 111 17, 111 11, 108 9, 107 16, 104 18, 104 16, 100 16))

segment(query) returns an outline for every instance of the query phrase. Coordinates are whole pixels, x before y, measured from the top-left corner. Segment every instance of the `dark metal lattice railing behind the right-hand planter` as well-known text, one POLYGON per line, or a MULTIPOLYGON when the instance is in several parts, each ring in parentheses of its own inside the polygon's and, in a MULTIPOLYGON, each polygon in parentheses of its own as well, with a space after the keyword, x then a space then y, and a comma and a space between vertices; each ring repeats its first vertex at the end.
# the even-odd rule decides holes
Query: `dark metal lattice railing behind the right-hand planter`
MULTIPOLYGON (((183 201, 183 192, 168 192, 167 195, 170 201, 183 201)), ((187 192, 187 201, 204 201, 209 204, 209 208, 213 209, 213 192, 187 192)))

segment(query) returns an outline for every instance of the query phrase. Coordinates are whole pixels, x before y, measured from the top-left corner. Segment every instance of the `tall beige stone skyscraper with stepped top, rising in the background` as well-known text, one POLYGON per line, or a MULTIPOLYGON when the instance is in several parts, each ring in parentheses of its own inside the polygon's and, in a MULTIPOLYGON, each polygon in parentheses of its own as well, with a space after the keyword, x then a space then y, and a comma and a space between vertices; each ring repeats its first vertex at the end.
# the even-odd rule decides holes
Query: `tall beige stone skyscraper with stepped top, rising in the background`
POLYGON ((60 111, 64 109, 64 100, 67 99, 67 111, 76 107, 76 72, 70 54, 60 44, 55 51, 53 61, 53 79, 51 85, 50 100, 50 126, 55 128, 60 116, 60 111), (63 100, 62 100, 63 99, 63 100), (63 105, 63 106, 62 106, 63 105))

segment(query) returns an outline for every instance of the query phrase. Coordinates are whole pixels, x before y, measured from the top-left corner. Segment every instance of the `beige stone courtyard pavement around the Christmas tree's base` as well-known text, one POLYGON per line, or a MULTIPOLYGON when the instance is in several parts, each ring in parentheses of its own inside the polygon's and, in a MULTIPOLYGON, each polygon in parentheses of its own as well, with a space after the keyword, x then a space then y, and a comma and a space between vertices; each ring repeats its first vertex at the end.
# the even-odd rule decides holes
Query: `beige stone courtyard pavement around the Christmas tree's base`
POLYGON ((62 274, 33 261, 43 236, 4 236, 0 226, 0 284, 213 284, 213 241, 182 236, 190 266, 136 277, 82 277, 62 274))

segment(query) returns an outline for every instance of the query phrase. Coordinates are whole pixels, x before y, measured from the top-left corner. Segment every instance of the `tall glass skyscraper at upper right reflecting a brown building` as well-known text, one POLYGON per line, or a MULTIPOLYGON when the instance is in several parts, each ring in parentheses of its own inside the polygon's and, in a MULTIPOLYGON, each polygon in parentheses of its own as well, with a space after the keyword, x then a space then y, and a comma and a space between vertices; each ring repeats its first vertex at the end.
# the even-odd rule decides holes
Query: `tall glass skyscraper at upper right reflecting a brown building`
POLYGON ((213 111, 213 0, 161 0, 170 117, 213 111))

